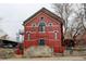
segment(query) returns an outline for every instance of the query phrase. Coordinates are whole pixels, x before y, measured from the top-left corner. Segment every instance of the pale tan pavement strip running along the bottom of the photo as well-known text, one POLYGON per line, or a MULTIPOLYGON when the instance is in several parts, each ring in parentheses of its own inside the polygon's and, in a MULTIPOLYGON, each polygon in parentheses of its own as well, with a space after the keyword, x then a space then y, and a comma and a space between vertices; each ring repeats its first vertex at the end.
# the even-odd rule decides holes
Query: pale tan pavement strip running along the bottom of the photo
POLYGON ((7 61, 86 61, 86 56, 57 56, 57 57, 8 59, 7 61))

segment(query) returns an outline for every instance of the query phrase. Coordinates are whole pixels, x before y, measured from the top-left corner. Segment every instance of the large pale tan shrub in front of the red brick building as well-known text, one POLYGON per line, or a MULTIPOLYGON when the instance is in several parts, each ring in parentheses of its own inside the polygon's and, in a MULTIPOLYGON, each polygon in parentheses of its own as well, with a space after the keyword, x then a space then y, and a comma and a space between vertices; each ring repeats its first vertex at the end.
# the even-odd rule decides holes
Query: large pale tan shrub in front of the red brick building
POLYGON ((47 46, 30 47, 25 51, 26 57, 51 56, 51 55, 52 55, 52 49, 47 46))

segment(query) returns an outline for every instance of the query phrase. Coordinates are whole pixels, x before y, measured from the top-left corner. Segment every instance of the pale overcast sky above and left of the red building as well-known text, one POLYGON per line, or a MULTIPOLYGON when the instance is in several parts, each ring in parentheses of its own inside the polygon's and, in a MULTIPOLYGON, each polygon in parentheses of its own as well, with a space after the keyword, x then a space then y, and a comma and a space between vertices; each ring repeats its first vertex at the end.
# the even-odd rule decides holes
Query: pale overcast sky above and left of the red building
POLYGON ((11 37, 10 39, 16 38, 19 29, 23 29, 23 22, 32 16, 35 12, 46 8, 53 12, 51 4, 0 4, 0 29, 11 37))

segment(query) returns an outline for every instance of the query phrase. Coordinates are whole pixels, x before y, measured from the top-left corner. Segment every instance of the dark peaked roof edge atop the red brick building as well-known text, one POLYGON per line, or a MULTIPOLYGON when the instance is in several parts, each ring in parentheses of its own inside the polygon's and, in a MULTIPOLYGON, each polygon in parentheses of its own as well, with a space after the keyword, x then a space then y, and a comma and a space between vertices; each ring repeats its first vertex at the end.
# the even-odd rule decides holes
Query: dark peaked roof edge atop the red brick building
POLYGON ((51 16, 51 17, 58 20, 61 24, 62 24, 62 21, 64 21, 63 18, 61 18, 60 16, 58 16, 58 15, 56 15, 54 13, 50 12, 50 11, 47 10, 46 8, 42 8, 42 9, 40 9, 38 12, 36 12, 34 15, 32 15, 30 17, 28 17, 26 21, 24 21, 24 24, 23 24, 23 25, 25 25, 26 22, 28 22, 30 18, 33 18, 34 16, 36 16, 36 15, 37 15, 38 13, 40 13, 40 12, 44 12, 44 13, 48 14, 49 16, 51 16))

